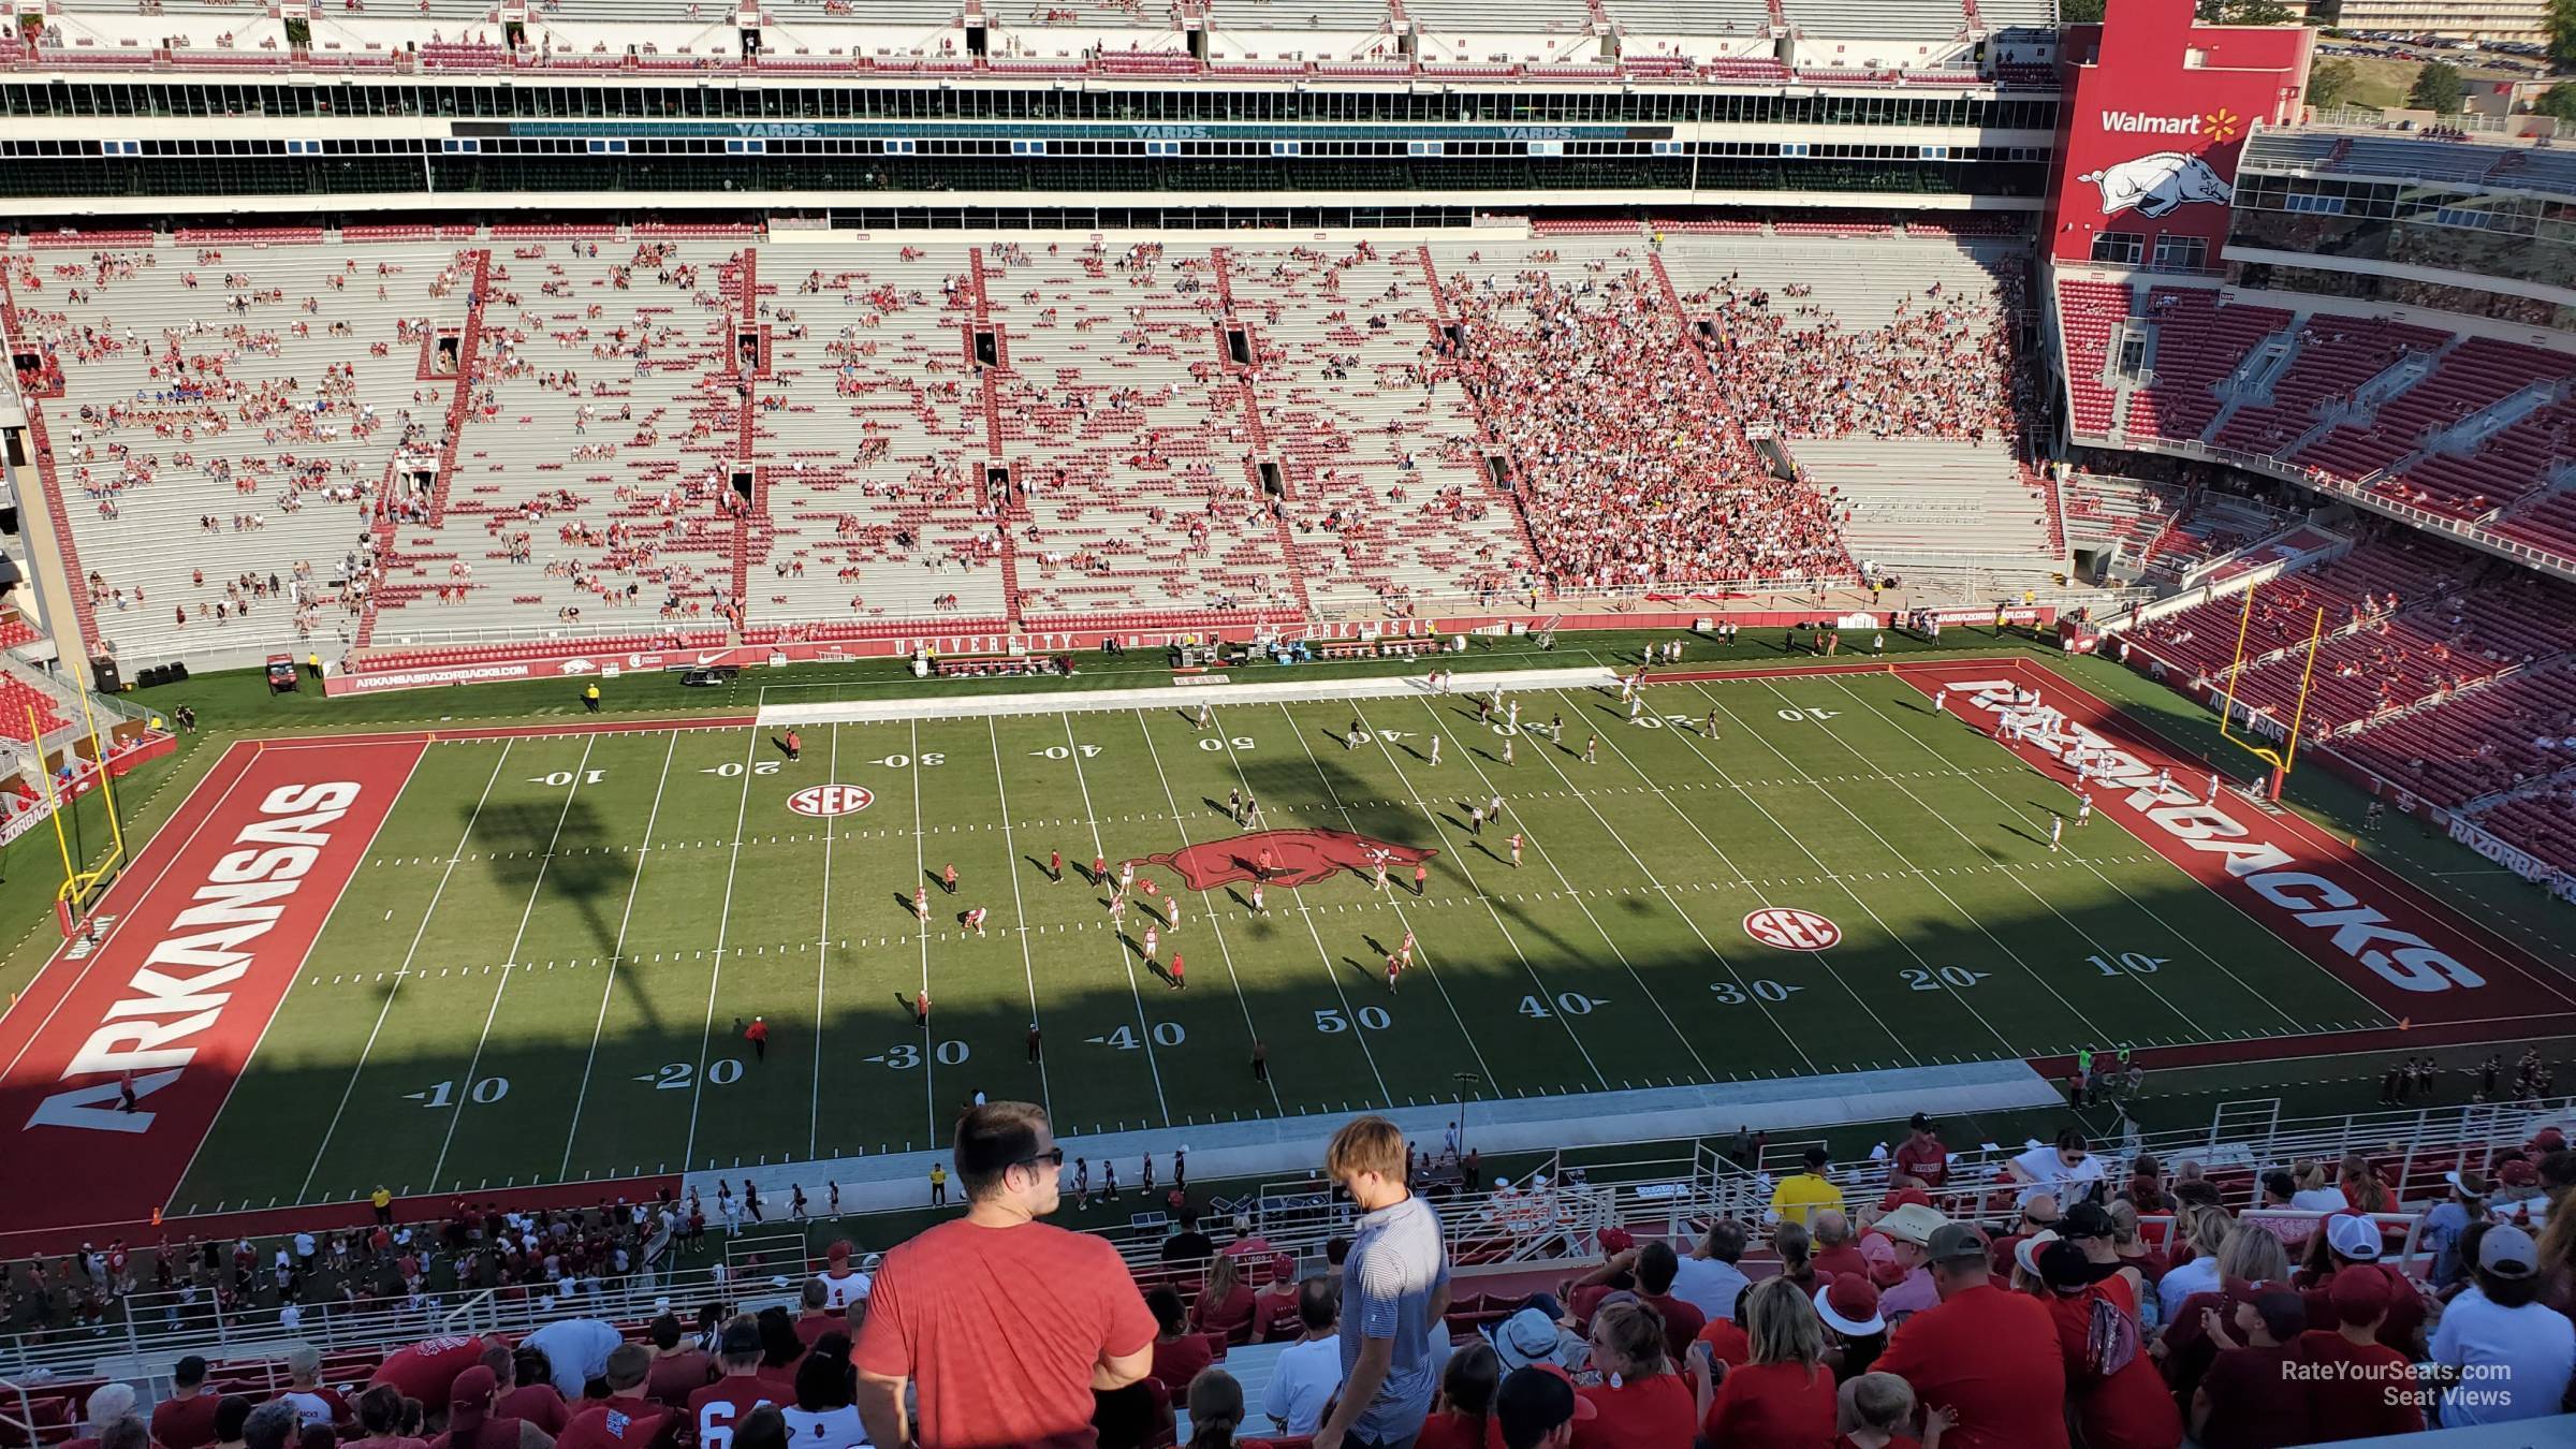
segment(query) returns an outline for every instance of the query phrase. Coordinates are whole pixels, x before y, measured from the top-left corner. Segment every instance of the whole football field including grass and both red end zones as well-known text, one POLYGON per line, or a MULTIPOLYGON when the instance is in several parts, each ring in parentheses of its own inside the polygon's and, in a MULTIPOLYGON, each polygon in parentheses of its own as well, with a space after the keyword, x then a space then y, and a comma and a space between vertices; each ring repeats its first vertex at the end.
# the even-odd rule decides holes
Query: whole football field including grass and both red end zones
POLYGON ((2473 926, 2372 900, 2465 962, 2406 985, 2398 926, 2372 962, 2352 910, 2308 918, 2324 887, 2249 895, 2244 848, 2146 822, 2202 797, 2154 740, 2081 820, 2061 761, 1991 735, 1999 670, 2066 691, 1783 670, 1654 683, 1631 719, 1551 670, 1489 722, 1396 681, 237 745, 10 1013, 5 1088, 100 1183, 59 1207, 82 1225, 920 1152, 979 1091, 1079 1140, 2571 1008, 2473 926))

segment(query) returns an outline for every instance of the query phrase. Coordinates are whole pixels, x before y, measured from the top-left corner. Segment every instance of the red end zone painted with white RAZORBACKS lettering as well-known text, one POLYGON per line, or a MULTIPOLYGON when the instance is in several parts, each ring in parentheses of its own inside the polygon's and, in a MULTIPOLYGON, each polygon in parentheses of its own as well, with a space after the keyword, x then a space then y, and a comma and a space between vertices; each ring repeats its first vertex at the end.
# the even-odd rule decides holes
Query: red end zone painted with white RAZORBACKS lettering
POLYGON ((2272 1060, 2306 1049, 2354 1049, 2375 1036, 2388 1047, 2476 1042, 2494 1029, 2532 1031, 2537 1021, 2576 1013, 2576 982, 2512 941, 2483 931, 2403 877, 2318 830, 2290 810, 2259 810, 2223 786, 2210 802, 2210 766, 2151 740, 2117 709, 2066 678, 2020 660, 1960 660, 1896 670, 1924 694, 1947 691, 1945 712, 1989 735, 2004 719, 2025 722, 2002 740, 2043 773, 2074 784, 2069 763, 2081 745, 2094 810, 2125 825, 2166 861, 2236 905, 2311 962, 2352 985, 2388 1013, 2388 1031, 2347 1031, 2287 1042, 2228 1042, 2208 1049, 2164 1049, 2159 1065, 2192 1060, 2272 1060), (2038 714, 2014 701, 2038 691, 2038 714), (2169 771, 2159 792, 2156 773, 2169 771), (2401 1036, 2398 1024, 2411 1024, 2401 1036))

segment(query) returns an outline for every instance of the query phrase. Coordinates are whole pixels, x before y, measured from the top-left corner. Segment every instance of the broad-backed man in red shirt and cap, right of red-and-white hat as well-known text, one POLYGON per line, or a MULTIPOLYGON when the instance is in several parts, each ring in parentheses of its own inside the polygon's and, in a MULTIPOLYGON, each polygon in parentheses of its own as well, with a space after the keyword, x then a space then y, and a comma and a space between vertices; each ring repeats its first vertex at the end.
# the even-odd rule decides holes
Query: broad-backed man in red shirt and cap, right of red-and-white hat
POLYGON ((1873 1364, 1958 1423, 1945 1449, 2066 1449, 2066 1361, 2038 1299, 1994 1287, 1986 1240, 1942 1222, 1924 1243, 1940 1307, 1909 1318, 1873 1364))

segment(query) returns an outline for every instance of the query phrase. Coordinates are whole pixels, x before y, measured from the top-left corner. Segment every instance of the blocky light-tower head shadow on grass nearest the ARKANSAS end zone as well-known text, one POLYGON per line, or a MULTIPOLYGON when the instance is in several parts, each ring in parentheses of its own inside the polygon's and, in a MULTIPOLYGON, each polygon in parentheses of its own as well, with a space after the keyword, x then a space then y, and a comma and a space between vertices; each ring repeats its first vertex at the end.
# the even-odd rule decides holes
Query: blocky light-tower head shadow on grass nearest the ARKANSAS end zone
POLYGON ((634 856, 626 825, 611 835, 598 807, 580 792, 569 802, 459 802, 459 815, 474 820, 474 846, 482 869, 502 900, 515 897, 528 928, 520 959, 590 959, 618 949, 618 923, 634 890, 634 856), (564 908, 574 923, 567 931, 564 908))

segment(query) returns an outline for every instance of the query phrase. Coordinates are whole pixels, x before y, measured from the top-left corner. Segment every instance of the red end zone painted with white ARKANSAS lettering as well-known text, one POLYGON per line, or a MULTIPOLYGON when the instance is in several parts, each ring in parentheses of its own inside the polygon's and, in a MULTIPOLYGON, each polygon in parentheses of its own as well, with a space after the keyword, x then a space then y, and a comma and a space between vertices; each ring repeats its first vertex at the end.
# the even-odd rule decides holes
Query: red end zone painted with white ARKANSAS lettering
POLYGON ((242 743, 0 1018, 5 1235, 170 1201, 428 737, 242 743), (134 1111, 124 1111, 131 1080, 134 1111))

